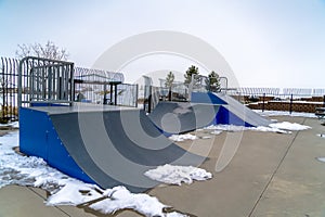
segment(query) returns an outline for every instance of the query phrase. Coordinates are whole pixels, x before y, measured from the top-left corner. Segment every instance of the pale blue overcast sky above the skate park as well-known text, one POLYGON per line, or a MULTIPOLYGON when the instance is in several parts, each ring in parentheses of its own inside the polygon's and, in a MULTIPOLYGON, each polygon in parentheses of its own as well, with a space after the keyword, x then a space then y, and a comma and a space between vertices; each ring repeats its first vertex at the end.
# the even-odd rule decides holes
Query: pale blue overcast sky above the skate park
MULTIPOLYGON (((0 56, 15 58, 17 44, 51 40, 76 65, 93 67, 125 39, 168 30, 214 48, 240 87, 325 88, 324 0, 0 0, 0 56)), ((161 71, 182 79, 191 64, 157 54, 136 59, 122 72, 128 82, 161 71)))

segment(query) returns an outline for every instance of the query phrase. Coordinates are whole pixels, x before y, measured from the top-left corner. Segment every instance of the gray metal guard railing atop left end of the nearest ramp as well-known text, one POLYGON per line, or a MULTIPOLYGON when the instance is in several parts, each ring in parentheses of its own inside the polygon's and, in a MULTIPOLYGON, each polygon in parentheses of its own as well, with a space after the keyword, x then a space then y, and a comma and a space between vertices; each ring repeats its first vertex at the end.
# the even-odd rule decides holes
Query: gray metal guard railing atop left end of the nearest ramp
POLYGON ((26 56, 18 66, 18 107, 30 103, 73 103, 74 63, 26 56))

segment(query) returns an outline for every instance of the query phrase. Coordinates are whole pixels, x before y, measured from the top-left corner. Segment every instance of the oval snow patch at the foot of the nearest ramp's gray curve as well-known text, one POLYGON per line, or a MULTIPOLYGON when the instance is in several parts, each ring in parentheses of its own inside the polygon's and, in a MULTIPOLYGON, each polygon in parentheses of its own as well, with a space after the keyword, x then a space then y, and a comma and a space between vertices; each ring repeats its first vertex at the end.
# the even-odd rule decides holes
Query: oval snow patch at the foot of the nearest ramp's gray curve
POLYGON ((148 178, 169 184, 181 186, 192 183, 194 180, 204 181, 212 178, 212 174, 193 166, 173 166, 166 164, 144 173, 148 178))

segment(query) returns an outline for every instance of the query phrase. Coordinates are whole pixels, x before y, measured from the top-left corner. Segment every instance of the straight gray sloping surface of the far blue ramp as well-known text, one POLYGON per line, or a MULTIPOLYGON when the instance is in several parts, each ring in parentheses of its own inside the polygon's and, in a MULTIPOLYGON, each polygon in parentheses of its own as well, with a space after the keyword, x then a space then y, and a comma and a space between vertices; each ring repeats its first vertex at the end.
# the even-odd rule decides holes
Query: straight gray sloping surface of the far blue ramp
POLYGON ((225 106, 230 112, 252 126, 269 126, 272 123, 225 93, 213 94, 227 103, 227 105, 223 106, 225 106))

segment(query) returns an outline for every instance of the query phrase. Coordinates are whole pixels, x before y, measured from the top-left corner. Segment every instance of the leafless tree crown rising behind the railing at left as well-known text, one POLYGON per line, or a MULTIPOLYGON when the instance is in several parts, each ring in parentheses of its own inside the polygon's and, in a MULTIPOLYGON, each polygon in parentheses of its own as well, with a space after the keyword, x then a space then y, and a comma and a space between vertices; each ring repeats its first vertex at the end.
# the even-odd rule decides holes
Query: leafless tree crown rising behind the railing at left
POLYGON ((41 43, 18 44, 16 58, 23 59, 28 55, 58 61, 66 61, 69 56, 68 52, 64 48, 58 48, 53 41, 50 40, 44 46, 41 43))

